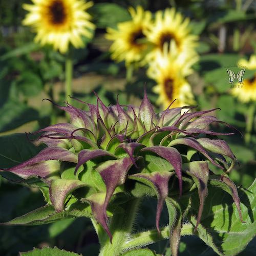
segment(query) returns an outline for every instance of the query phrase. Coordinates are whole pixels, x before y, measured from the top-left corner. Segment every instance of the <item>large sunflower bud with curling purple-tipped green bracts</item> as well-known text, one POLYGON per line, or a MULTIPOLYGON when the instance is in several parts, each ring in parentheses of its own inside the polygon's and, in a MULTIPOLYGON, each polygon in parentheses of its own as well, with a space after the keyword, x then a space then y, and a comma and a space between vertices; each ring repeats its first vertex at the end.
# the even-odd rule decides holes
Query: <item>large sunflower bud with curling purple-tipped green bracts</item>
POLYGON ((159 220, 165 202, 170 246, 177 255, 182 223, 189 209, 183 210, 179 202, 198 189, 197 229, 209 182, 233 197, 242 221, 237 188, 227 177, 232 168, 227 158, 233 164, 236 157, 217 137, 233 133, 210 131, 213 122, 230 125, 204 115, 216 109, 190 112, 189 107, 168 108, 156 114, 146 92, 139 108, 118 102, 106 107, 98 96, 96 105, 87 105, 88 111, 69 104, 58 106, 70 114, 71 122, 37 131, 41 135, 35 143, 47 147, 22 164, 2 169, 27 180, 23 180, 27 185, 39 187, 48 202, 28 218, 16 218, 9 224, 32 225, 87 216, 94 225, 100 223, 111 241, 113 228, 109 220, 115 219, 118 209, 125 209, 125 204, 135 198, 156 196, 157 231, 161 232, 159 220), (211 172, 213 166, 220 169, 219 176, 211 172))

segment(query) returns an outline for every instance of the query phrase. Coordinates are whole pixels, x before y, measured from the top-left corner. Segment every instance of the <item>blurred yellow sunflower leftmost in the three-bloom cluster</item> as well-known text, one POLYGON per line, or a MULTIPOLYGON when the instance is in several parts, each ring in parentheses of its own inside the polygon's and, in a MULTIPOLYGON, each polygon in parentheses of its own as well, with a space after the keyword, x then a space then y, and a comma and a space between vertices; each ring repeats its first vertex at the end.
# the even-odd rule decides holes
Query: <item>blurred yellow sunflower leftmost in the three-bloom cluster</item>
POLYGON ((135 9, 129 8, 132 19, 117 25, 117 30, 107 28, 106 38, 113 40, 110 47, 111 57, 126 65, 141 61, 148 48, 145 30, 151 25, 151 12, 144 11, 141 6, 135 9))

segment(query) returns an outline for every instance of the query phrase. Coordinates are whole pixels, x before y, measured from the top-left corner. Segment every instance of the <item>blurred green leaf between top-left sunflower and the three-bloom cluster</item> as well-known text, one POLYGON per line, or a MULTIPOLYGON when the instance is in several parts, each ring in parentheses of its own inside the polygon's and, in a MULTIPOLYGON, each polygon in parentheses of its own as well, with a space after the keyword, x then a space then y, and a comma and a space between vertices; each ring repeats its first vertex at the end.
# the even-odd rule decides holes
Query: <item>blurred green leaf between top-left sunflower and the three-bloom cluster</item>
POLYGON ((97 28, 115 28, 117 23, 131 19, 126 9, 112 3, 95 4, 90 11, 93 13, 97 28))

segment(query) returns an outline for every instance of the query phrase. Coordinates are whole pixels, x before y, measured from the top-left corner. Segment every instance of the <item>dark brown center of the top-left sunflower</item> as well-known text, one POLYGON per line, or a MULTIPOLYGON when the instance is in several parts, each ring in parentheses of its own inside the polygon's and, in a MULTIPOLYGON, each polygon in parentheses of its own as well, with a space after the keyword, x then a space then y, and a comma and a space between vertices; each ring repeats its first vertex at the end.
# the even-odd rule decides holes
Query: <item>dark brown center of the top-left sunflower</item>
POLYGON ((65 6, 61 0, 55 0, 49 6, 49 13, 52 24, 62 24, 67 17, 65 6))

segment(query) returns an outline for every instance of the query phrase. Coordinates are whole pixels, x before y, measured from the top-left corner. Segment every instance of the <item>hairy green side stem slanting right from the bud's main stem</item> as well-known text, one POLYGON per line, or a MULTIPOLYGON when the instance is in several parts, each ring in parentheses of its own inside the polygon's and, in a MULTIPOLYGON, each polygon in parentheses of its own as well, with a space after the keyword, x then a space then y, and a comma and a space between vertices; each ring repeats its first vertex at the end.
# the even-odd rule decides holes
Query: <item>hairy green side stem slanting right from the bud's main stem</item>
MULTIPOLYGON (((191 235, 193 234, 193 230, 193 225, 183 224, 181 229, 181 236, 191 235)), ((126 241, 122 245, 122 251, 130 250, 133 248, 140 248, 142 246, 153 244, 164 239, 169 239, 169 226, 161 228, 160 234, 158 234, 156 229, 134 234, 134 236, 129 241, 126 241)))

